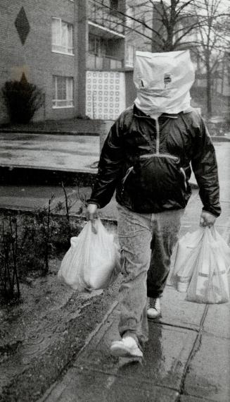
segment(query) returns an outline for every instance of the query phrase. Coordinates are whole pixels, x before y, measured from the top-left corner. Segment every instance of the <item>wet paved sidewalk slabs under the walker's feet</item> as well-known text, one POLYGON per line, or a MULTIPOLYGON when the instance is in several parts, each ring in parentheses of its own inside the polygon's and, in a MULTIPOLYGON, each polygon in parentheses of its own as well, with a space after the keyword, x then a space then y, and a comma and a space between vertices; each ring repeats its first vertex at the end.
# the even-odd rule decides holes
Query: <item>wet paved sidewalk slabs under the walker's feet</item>
POLYGON ((114 307, 41 401, 229 402, 230 336, 212 327, 219 316, 226 319, 219 324, 229 326, 229 303, 208 306, 184 299, 167 285, 162 319, 149 323, 142 364, 110 356, 110 343, 119 339, 114 307))

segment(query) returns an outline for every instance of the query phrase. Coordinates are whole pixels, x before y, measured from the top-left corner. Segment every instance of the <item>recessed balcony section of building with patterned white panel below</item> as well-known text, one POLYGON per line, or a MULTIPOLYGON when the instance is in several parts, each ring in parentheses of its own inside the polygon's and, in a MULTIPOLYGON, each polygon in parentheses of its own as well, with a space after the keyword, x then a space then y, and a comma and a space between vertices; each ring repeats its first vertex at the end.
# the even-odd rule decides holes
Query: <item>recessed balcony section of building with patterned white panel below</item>
POLYGON ((85 10, 86 114, 91 118, 114 119, 135 97, 133 59, 126 47, 125 3, 88 0, 85 10))

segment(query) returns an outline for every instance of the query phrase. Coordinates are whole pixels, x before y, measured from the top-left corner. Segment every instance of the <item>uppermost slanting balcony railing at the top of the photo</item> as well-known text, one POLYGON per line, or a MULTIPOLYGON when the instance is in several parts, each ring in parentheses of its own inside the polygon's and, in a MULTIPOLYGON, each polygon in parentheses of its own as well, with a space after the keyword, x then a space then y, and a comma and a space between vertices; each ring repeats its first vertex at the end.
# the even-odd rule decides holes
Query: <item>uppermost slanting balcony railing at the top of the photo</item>
POLYGON ((124 34, 124 21, 122 18, 111 14, 108 8, 98 6, 98 4, 94 3, 94 0, 89 0, 88 5, 88 18, 91 22, 122 35, 124 34))

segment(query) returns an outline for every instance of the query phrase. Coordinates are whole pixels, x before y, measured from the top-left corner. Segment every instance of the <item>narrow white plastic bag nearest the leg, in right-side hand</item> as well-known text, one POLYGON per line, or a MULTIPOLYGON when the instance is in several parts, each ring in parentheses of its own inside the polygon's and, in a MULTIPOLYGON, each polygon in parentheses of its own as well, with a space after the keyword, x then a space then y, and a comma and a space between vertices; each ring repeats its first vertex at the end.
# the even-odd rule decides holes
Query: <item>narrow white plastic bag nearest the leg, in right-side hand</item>
POLYGON ((180 292, 186 292, 196 266, 204 230, 199 228, 179 239, 171 281, 180 292))

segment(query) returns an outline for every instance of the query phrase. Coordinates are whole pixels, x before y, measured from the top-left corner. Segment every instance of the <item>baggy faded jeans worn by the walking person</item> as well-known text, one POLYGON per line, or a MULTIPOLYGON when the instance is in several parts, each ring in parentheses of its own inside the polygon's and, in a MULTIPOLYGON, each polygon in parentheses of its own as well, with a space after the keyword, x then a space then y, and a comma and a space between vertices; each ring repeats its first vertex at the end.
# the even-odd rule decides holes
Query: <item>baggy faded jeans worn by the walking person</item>
POLYGON ((117 204, 123 279, 119 291, 120 336, 148 341, 147 295, 162 296, 184 209, 139 214, 117 204))

